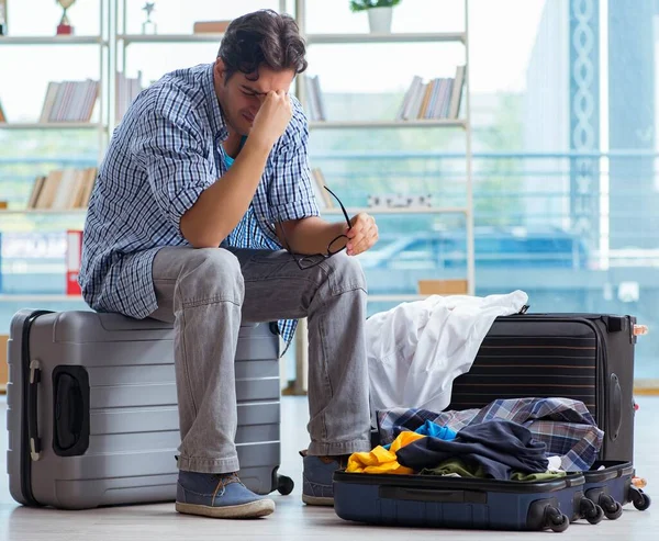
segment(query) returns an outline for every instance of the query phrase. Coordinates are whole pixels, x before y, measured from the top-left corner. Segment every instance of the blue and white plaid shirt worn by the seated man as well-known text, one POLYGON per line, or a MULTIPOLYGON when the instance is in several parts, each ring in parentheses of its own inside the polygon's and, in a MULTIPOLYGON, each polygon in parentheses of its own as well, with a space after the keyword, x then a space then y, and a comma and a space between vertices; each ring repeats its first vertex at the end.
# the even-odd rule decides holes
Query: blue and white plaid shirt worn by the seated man
MULTIPOLYGON (((298 100, 243 219, 223 243, 281 249, 265 223, 319 215, 308 165, 309 126, 298 100)), ((226 172, 228 131, 213 65, 167 74, 144 90, 116 127, 89 203, 79 283, 98 312, 144 318, 157 308, 156 252, 185 246, 181 216, 226 172)), ((279 322, 290 342, 295 322, 279 322)))

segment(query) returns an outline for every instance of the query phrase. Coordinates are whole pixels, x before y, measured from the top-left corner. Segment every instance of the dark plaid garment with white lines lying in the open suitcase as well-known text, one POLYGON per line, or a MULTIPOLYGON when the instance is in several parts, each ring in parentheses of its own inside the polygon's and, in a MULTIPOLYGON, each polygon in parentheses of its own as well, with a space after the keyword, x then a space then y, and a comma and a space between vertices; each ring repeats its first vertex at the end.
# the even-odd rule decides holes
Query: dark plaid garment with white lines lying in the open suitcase
POLYGON ((402 430, 416 430, 426 421, 456 432, 462 428, 505 419, 526 427, 547 446, 547 455, 561 458, 566 472, 588 471, 597 459, 604 432, 582 402, 571 398, 509 398, 481 409, 434 413, 392 408, 377 412, 381 443, 393 441, 402 430))

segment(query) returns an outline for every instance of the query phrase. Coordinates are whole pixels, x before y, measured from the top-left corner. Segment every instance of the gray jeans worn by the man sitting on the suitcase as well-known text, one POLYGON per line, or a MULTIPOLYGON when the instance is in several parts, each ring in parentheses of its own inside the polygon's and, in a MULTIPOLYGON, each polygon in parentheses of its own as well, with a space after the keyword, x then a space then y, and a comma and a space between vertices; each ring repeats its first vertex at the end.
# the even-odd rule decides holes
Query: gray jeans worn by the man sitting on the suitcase
POLYGON ((241 320, 308 317, 309 454, 370 449, 366 282, 340 252, 300 270, 287 251, 163 248, 154 260, 158 309, 175 324, 181 470, 239 470, 234 357, 241 320))

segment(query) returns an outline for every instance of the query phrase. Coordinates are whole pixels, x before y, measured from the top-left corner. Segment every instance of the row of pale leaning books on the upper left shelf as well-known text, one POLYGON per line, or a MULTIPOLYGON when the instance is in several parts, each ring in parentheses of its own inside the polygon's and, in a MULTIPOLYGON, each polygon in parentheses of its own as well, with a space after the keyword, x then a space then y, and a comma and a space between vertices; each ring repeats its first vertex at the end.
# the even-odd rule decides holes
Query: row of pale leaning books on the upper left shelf
POLYGON ((99 81, 51 81, 40 122, 89 122, 99 97, 99 81))

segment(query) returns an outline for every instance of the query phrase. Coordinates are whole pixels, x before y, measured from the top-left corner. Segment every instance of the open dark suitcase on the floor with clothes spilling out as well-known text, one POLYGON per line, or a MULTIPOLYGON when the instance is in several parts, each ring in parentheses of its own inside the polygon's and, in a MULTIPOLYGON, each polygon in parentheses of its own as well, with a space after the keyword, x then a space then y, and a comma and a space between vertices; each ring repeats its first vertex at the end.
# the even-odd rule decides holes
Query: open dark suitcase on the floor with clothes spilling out
POLYGON ((563 531, 582 517, 599 522, 600 505, 611 519, 619 516, 615 503, 647 508, 647 495, 630 486, 637 334, 632 316, 499 317, 471 370, 455 380, 446 408, 481 408, 498 398, 581 401, 605 432, 606 471, 538 483, 336 472, 336 514, 380 525, 563 531))

